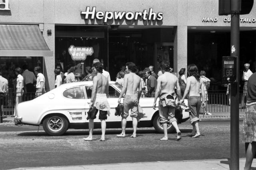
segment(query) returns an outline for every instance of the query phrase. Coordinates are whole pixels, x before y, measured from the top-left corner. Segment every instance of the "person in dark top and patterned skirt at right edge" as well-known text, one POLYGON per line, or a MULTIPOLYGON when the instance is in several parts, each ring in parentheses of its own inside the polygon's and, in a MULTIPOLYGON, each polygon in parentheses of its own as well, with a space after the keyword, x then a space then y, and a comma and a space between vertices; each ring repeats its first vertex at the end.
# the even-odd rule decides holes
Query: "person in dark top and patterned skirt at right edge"
POLYGON ((250 170, 256 153, 256 73, 248 79, 248 100, 244 117, 242 141, 248 145, 244 170, 250 170))

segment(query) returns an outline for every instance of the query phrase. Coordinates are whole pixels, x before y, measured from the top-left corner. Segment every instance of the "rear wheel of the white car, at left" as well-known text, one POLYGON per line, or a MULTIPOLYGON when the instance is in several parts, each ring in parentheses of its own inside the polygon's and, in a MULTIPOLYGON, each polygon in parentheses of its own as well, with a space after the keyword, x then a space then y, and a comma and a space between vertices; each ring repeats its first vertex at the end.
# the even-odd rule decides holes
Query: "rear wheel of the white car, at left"
POLYGON ((68 120, 61 115, 50 116, 44 119, 43 128, 48 135, 63 135, 68 130, 68 120))

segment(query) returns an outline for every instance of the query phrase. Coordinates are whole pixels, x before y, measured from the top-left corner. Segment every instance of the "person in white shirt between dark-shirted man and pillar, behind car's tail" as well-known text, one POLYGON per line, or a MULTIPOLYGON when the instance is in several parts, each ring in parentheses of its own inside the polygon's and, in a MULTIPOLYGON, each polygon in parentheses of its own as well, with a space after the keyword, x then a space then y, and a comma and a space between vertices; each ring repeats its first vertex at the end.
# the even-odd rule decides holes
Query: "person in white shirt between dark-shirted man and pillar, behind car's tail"
POLYGON ((35 69, 36 74, 36 97, 41 96, 45 93, 45 78, 44 74, 42 74, 42 70, 40 66, 36 66, 35 69))

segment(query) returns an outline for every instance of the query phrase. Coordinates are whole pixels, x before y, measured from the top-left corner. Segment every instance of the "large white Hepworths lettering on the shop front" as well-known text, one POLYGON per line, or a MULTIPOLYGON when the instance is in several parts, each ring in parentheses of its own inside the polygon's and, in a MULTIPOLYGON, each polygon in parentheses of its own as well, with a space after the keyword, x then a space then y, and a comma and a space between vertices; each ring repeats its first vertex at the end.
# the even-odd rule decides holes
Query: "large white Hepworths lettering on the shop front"
POLYGON ((86 7, 86 11, 82 11, 81 14, 85 15, 84 19, 98 19, 104 20, 107 22, 108 20, 138 20, 142 18, 142 20, 163 20, 163 13, 155 13, 153 12, 153 8, 149 8, 148 10, 143 10, 143 12, 111 12, 111 11, 98 11, 96 12, 96 7, 92 7, 92 11, 90 11, 90 7, 86 7))

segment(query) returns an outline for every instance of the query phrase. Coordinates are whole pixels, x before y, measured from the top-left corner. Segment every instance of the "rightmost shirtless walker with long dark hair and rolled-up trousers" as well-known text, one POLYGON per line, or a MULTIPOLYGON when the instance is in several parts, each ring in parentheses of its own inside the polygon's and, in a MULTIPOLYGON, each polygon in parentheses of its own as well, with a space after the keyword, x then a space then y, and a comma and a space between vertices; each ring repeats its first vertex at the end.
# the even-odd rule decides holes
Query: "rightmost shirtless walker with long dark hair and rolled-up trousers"
POLYGON ((199 90, 202 92, 202 108, 204 108, 204 84, 203 80, 200 79, 200 75, 198 74, 198 68, 195 64, 188 65, 188 78, 187 78, 187 86, 184 92, 184 96, 181 102, 184 102, 185 96, 189 92, 188 98, 188 107, 190 108, 190 123, 193 126, 193 131, 190 134, 192 137, 199 137, 200 131, 198 127, 198 116, 201 106, 201 97, 199 90))

